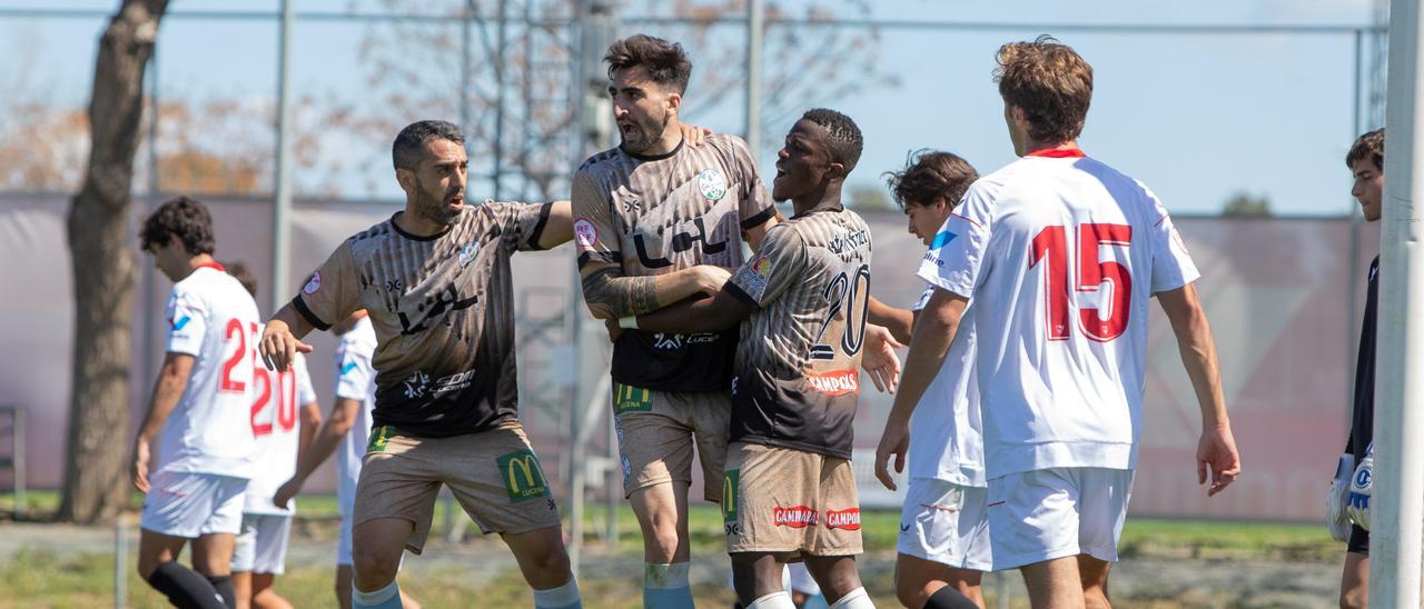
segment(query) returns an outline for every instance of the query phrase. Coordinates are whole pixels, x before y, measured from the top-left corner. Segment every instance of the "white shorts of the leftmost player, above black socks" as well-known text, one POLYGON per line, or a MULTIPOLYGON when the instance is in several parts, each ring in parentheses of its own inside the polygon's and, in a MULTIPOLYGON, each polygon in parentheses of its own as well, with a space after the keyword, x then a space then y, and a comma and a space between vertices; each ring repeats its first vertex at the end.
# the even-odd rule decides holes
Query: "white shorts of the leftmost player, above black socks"
POLYGON ((246 478, 182 471, 148 475, 148 495, 140 526, 169 536, 195 539, 242 529, 242 491, 246 478))

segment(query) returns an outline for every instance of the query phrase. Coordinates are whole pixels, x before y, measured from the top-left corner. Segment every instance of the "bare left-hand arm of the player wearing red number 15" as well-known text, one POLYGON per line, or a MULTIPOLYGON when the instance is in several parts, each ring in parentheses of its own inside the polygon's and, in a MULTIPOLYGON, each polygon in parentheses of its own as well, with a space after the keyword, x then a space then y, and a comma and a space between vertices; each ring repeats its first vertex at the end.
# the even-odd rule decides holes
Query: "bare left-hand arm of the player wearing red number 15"
POLYGON ((876 447, 876 478, 891 491, 896 489, 896 484, 890 477, 890 458, 894 457, 896 472, 904 471, 906 451, 910 450, 910 414, 914 413, 930 381, 940 373, 944 354, 950 351, 950 343, 954 341, 967 304, 968 299, 964 296, 937 289, 920 312, 910 337, 904 376, 900 377, 900 393, 894 396, 890 418, 886 421, 884 433, 880 434, 880 445, 876 447))

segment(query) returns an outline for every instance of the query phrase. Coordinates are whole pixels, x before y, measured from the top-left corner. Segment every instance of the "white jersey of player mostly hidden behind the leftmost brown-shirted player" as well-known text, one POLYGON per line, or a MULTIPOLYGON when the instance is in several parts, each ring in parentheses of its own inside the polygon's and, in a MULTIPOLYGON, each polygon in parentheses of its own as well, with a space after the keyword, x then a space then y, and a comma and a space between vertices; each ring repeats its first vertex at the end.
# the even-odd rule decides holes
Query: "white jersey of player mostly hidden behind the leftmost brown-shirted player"
POLYGON ((360 478, 360 461, 366 455, 366 441, 370 440, 370 411, 376 407, 376 370, 370 366, 373 353, 376 330, 370 317, 356 322, 356 326, 342 334, 342 343, 336 347, 336 397, 362 404, 356 423, 337 448, 336 501, 342 515, 350 515, 356 505, 356 480, 360 478))

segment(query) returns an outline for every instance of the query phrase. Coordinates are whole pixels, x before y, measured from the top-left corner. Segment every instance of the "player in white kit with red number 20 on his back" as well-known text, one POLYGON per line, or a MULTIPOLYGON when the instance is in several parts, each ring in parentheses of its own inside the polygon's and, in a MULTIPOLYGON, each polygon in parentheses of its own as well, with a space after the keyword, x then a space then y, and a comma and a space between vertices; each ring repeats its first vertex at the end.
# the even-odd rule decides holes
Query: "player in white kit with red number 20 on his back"
MULTIPOLYGON (((258 280, 252 270, 241 262, 226 266, 228 275, 255 299, 258 280)), ((238 609, 288 609, 292 603, 276 593, 273 582, 286 571, 295 509, 273 504, 272 491, 296 471, 298 458, 322 423, 306 357, 298 356, 282 373, 258 364, 252 370, 251 413, 256 457, 244 492, 242 532, 232 549, 232 589, 238 609)))

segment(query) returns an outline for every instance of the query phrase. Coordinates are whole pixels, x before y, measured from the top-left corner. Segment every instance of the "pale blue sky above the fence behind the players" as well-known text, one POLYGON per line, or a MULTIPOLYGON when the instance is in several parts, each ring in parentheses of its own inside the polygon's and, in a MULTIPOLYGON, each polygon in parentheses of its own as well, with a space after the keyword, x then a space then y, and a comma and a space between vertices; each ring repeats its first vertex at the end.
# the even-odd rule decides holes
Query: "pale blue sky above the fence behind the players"
MULTIPOLYGON (((450 0, 446 0, 450 1, 450 0)), ((0 0, 0 9, 56 7, 0 0)), ((298 0, 300 10, 343 10, 349 0, 298 0)), ((369 4, 369 3, 367 3, 369 4)), ((631 3, 639 4, 639 3, 631 3)), ((792 11, 805 1, 792 1, 792 11)), ((836 6, 837 3, 820 3, 836 6)), ((111 10, 115 1, 64 7, 111 10)), ((273 10, 275 0, 175 0, 174 10, 273 10)), ((427 4, 429 6, 429 4, 427 4)), ((1344 151, 1353 125, 1354 40, 1349 34, 1162 34, 1054 31, 1065 24, 1367 26, 1370 0, 1276 1, 874 1, 886 20, 1025 24, 981 31, 883 30, 877 70, 899 85, 870 87, 833 107, 856 118, 866 152, 853 182, 879 184, 916 148, 950 149, 981 172, 1012 159, 1002 107, 990 80, 994 50, 1051 33, 1095 68, 1094 107, 1082 147, 1149 184, 1178 213, 1209 213, 1237 191, 1267 195, 1280 213, 1353 209, 1344 151)), ((840 7, 842 14, 854 14, 840 7)), ((298 94, 360 100, 356 60, 363 24, 298 26, 298 94)), ((23 87, 57 105, 83 105, 103 20, 0 18, 0 87, 23 87)), ((656 31, 654 31, 656 33, 656 31)), ((718 36, 739 36, 739 28, 718 36)), ((272 23, 171 18, 159 38, 161 94, 169 98, 273 98, 272 23)), ((699 61, 696 48, 693 61, 699 61)), ((775 61, 769 57, 768 61, 775 61)), ((696 75, 685 117, 740 132, 740 102, 699 108, 696 75)), ((776 127, 776 125, 770 125, 776 127)), ((789 125, 786 125, 789 127, 789 125)), ((779 129, 776 129, 779 131, 779 129)), ((323 154, 377 159, 387 142, 339 142, 323 154)), ((769 171, 773 149, 763 151, 769 171)), ((376 166, 380 166, 376 164, 376 166)), ((386 175, 350 176, 353 195, 396 196, 386 175)))

